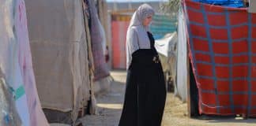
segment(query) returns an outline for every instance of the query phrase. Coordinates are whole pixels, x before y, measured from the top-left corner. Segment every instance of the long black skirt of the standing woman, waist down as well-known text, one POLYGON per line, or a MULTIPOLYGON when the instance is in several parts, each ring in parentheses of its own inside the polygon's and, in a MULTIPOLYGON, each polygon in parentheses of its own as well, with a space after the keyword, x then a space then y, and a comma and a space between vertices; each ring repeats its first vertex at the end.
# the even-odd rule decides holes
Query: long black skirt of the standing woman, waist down
POLYGON ((152 56, 133 57, 119 126, 160 126, 166 98, 164 73, 152 56))

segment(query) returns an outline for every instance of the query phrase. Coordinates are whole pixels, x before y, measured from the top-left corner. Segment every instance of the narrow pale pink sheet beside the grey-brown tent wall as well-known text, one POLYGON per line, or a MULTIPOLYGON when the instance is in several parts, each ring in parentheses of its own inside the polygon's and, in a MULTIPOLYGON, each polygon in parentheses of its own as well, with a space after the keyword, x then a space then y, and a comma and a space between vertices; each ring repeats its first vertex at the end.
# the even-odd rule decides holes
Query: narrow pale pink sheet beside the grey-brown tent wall
POLYGON ((47 126, 47 120, 43 114, 36 89, 24 1, 20 0, 18 5, 19 6, 17 6, 17 9, 20 11, 20 13, 16 23, 19 28, 17 28, 16 31, 19 42, 19 65, 21 67, 21 76, 23 76, 24 87, 28 98, 28 110, 31 121, 30 125, 47 126))

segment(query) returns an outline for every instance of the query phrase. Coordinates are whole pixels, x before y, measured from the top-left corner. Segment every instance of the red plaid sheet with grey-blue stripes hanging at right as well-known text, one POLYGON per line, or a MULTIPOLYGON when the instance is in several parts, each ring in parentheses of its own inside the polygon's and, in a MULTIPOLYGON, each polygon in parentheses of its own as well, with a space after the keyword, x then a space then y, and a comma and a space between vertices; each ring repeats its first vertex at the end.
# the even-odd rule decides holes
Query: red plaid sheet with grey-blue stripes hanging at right
POLYGON ((200 113, 255 115, 256 14, 183 2, 200 113))

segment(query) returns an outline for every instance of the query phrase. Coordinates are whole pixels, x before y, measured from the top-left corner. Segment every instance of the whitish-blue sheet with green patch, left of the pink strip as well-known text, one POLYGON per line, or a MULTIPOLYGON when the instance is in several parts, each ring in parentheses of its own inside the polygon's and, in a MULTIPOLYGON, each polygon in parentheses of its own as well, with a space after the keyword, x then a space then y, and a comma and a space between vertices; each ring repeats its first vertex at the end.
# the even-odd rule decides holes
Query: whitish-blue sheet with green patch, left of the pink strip
POLYGON ((21 117, 22 124, 29 125, 29 112, 27 95, 24 92, 24 83, 21 76, 21 68, 18 62, 18 42, 15 38, 17 32, 13 31, 15 27, 16 1, 0 1, 0 67, 5 76, 6 83, 10 88, 13 88, 13 94, 20 92, 15 98, 17 113, 21 117), (5 19, 5 20, 3 20, 5 19))

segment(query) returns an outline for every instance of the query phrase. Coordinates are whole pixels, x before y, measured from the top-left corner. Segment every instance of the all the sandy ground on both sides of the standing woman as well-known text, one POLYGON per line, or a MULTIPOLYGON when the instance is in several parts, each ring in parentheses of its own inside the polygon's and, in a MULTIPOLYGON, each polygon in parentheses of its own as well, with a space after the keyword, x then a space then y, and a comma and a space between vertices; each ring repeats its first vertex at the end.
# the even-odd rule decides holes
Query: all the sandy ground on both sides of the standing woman
MULTIPOLYGON (((82 119, 84 126, 117 126, 122 112, 126 72, 113 71, 110 92, 97 96, 99 114, 88 115, 82 119)), ((168 93, 162 126, 256 126, 256 119, 239 120, 235 117, 187 117, 187 105, 168 93)), ((58 126, 51 125, 51 126, 58 126)), ((62 126, 62 125, 59 125, 62 126)))

